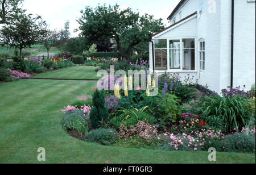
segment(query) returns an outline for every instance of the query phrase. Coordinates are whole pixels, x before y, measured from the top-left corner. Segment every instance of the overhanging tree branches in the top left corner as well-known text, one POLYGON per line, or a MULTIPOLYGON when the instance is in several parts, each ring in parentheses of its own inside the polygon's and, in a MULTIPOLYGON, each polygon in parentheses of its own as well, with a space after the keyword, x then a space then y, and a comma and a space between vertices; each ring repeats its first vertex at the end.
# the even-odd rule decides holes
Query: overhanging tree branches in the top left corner
POLYGON ((23 0, 0 0, 0 24, 6 24, 13 16, 22 12, 18 6, 23 0))

